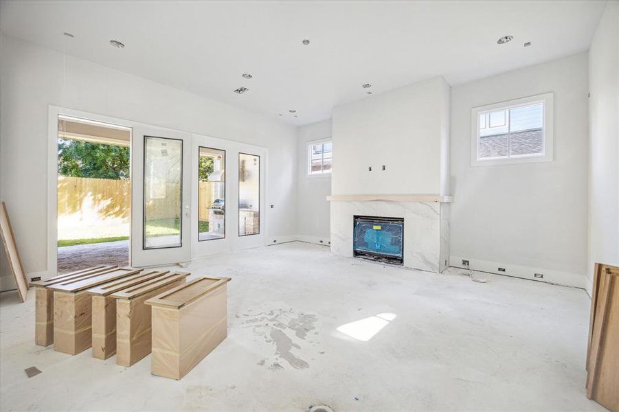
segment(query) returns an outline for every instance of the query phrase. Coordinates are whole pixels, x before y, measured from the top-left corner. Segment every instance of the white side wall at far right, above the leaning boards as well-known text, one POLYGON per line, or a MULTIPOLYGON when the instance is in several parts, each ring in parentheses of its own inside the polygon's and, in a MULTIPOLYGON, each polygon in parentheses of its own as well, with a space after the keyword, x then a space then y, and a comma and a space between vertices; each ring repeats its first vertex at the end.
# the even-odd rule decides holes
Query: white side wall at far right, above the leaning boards
POLYGON ((619 1, 609 1, 589 49, 589 241, 594 264, 619 266, 619 1))

